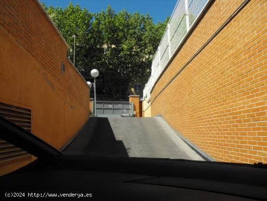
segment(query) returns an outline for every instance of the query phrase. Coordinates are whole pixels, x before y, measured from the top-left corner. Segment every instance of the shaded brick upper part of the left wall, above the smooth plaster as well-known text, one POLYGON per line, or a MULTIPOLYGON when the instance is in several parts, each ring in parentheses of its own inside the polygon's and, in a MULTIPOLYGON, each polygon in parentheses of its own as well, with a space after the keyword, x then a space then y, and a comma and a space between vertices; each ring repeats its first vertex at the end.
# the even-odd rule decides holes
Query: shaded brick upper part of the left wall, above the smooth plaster
POLYGON ((82 75, 68 61, 66 42, 56 32, 37 0, 0 0, 0 25, 46 71, 53 74, 69 94, 83 107, 88 107, 89 100, 83 95, 87 86, 82 75), (61 62, 65 63, 68 73, 61 73, 61 62))

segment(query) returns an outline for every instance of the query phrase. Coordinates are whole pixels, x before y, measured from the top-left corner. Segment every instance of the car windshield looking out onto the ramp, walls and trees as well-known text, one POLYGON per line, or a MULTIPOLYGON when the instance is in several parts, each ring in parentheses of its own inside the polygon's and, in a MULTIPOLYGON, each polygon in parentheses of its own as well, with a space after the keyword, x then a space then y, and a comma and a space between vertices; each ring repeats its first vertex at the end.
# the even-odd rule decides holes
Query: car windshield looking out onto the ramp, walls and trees
POLYGON ((66 155, 267 163, 264 3, 107 2, 0 2, 0 116, 66 155))

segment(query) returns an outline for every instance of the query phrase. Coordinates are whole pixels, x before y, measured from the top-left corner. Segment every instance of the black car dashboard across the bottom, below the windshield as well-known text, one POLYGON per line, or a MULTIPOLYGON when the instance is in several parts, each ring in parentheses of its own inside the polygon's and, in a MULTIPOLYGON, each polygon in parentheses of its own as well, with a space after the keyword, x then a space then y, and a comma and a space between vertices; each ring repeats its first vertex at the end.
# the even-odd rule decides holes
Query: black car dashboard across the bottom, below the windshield
MULTIPOLYGON (((64 200, 78 198, 61 194, 76 193, 101 201, 251 201, 267 198, 266 178, 267 169, 258 165, 65 155, 37 160, 0 177, 0 188, 57 194, 64 200)), ((37 198, 26 200, 31 199, 37 198)))

